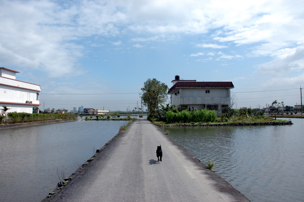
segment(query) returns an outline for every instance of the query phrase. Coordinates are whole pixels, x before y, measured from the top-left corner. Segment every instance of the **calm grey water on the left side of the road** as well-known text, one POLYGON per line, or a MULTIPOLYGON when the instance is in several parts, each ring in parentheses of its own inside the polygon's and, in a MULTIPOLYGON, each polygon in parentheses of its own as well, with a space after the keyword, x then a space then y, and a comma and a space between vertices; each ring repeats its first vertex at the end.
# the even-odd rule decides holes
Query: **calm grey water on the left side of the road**
POLYGON ((0 130, 0 201, 40 201, 126 121, 78 121, 0 130))

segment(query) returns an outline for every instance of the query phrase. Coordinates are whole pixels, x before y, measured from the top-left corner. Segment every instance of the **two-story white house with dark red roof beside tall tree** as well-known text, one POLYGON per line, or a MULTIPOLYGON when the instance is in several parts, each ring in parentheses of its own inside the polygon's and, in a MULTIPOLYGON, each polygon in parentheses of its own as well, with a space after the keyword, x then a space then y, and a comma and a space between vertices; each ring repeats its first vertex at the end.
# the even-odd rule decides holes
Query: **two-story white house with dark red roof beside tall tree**
POLYGON ((230 89, 232 82, 197 82, 180 80, 175 76, 173 86, 168 91, 172 105, 181 105, 182 109, 213 109, 218 112, 230 107, 230 89))

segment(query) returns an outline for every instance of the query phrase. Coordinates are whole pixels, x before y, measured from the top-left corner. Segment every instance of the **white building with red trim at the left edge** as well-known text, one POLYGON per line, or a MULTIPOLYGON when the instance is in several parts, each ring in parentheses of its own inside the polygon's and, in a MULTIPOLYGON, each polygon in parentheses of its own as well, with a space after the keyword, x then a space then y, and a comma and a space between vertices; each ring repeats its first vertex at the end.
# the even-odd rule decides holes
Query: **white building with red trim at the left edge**
POLYGON ((16 80, 16 73, 20 72, 0 67, 0 109, 5 105, 9 108, 7 113, 39 113, 40 85, 16 80))

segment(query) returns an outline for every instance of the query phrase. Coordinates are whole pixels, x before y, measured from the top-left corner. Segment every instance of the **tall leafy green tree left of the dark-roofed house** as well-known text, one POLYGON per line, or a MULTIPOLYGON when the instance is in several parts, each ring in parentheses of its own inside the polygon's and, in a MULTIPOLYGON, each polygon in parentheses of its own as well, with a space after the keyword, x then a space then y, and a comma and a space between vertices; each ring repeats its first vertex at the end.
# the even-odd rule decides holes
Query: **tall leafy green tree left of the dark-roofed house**
POLYGON ((159 82, 156 78, 148 78, 141 88, 141 100, 148 107, 150 113, 159 113, 159 105, 168 99, 168 86, 159 82))

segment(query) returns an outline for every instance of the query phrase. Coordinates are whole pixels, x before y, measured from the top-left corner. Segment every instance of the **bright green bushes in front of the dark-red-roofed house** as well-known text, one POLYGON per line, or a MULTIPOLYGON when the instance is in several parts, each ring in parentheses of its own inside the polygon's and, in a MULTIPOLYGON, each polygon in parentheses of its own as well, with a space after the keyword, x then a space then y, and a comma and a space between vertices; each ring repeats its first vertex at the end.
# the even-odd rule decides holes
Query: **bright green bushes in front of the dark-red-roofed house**
POLYGON ((174 123, 207 123, 215 122, 217 114, 214 110, 199 109, 199 110, 183 110, 178 112, 173 112, 171 110, 166 112, 166 122, 167 124, 174 123))

